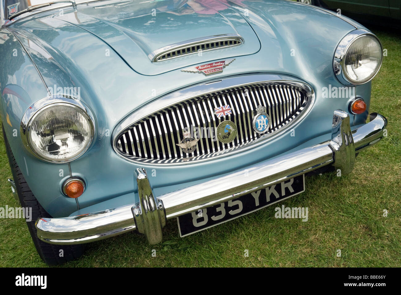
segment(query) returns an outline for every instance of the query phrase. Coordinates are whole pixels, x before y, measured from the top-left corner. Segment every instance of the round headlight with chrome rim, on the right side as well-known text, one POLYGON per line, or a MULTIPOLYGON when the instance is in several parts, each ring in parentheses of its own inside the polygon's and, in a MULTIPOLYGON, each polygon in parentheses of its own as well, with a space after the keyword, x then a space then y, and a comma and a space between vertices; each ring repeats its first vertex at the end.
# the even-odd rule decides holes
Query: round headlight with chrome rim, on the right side
POLYGON ((369 82, 381 67, 382 47, 379 40, 366 30, 346 35, 334 54, 334 72, 345 84, 369 82))

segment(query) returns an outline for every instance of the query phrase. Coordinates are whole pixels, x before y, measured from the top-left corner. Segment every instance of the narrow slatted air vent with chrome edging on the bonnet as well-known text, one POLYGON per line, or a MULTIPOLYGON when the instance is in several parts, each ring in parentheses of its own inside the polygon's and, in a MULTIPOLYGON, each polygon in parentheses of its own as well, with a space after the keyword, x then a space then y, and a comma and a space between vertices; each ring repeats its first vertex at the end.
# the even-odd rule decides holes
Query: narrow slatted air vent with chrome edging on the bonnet
POLYGON ((223 49, 233 46, 238 46, 244 43, 244 40, 239 35, 216 35, 192 39, 181 43, 168 45, 159 48, 148 57, 152 62, 166 61, 176 57, 199 53, 200 51, 211 51, 216 49, 223 49))

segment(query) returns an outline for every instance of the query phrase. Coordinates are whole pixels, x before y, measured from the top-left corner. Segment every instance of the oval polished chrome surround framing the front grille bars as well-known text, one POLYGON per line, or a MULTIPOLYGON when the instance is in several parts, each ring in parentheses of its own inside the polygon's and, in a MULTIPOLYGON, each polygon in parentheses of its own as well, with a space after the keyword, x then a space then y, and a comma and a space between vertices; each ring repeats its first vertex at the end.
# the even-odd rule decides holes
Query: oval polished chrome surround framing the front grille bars
POLYGON ((312 108, 315 102, 315 93, 314 90, 310 85, 304 83, 302 81, 292 80, 294 78, 285 76, 285 75, 272 75, 272 74, 250 74, 250 75, 241 75, 241 76, 234 76, 234 77, 227 77, 225 79, 213 80, 209 82, 205 82, 202 84, 194 85, 188 88, 184 88, 182 90, 178 90, 176 92, 172 92, 166 96, 160 97, 149 104, 139 108, 138 110, 134 111, 132 114, 128 115, 125 119, 119 122, 116 127, 114 128, 111 134, 111 144, 113 146, 113 150, 117 155, 131 161, 133 163, 138 163, 141 165, 152 165, 152 166, 161 166, 161 165, 185 165, 185 164, 192 164, 198 163, 203 161, 210 161, 213 159, 218 159, 221 157, 226 157, 229 155, 233 155, 235 153, 239 153, 242 151, 246 151, 247 149, 253 148, 255 146, 259 146, 267 141, 273 140, 277 136, 280 136, 287 130, 290 130, 294 127, 298 122, 300 122, 312 108), (283 79, 283 78, 288 79, 283 79), (280 79, 282 78, 282 79, 280 79), (212 92, 218 92, 221 90, 241 87, 249 84, 259 84, 263 83, 265 85, 287 85, 291 87, 296 87, 300 90, 306 99, 306 105, 302 112, 296 116, 293 120, 288 122, 283 127, 275 130, 274 132, 265 134, 259 137, 257 140, 253 140, 251 142, 247 142, 242 144, 241 146, 235 146, 227 150, 218 151, 213 154, 195 156, 192 158, 181 158, 181 159, 174 159, 174 162, 167 161, 166 159, 144 159, 138 158, 134 156, 130 156, 124 154, 119 151, 117 148, 117 141, 119 137, 129 130, 130 126, 135 124, 136 122, 156 113, 168 108, 172 105, 178 104, 180 102, 196 98, 198 96, 203 96, 212 92))

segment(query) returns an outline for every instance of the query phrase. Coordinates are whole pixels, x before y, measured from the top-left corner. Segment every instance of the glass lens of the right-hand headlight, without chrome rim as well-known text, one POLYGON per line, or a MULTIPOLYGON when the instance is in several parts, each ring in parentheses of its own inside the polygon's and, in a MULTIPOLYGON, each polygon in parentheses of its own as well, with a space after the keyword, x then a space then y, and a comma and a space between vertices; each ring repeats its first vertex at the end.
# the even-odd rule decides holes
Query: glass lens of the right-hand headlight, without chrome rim
POLYGON ((372 35, 355 39, 344 55, 343 71, 354 84, 370 81, 380 69, 382 50, 379 40, 372 35))

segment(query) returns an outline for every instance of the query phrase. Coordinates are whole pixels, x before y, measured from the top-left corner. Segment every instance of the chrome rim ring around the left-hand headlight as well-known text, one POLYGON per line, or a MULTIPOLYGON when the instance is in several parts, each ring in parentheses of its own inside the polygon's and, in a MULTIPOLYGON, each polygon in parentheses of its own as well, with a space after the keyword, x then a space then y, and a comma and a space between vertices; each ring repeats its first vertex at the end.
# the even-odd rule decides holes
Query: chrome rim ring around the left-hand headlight
POLYGON ((92 145, 94 137, 95 137, 95 119, 94 116, 91 112, 91 110, 83 103, 81 100, 78 100, 77 98, 74 98, 72 96, 64 95, 64 94, 55 94, 52 96, 47 96, 45 98, 42 98, 36 102, 34 102, 24 113, 21 119, 21 124, 20 124, 20 134, 21 134, 21 140, 22 144, 25 147, 25 149, 36 159, 39 159, 41 161, 45 161, 47 163, 53 163, 53 164, 65 164, 69 163, 71 161, 74 161, 81 157, 92 145), (55 161, 55 160, 50 160, 42 157, 38 153, 34 151, 34 149, 31 147, 30 142, 29 142, 29 132, 30 132, 30 124, 31 122, 34 122, 34 119, 36 116, 41 114, 43 111, 45 111, 47 108, 53 107, 53 106, 67 106, 67 107, 72 107, 77 110, 80 110, 83 112, 85 115, 88 116, 89 122, 91 124, 91 134, 90 134, 90 140, 85 146, 85 149, 81 151, 78 155, 71 159, 63 159, 60 161, 55 161))

